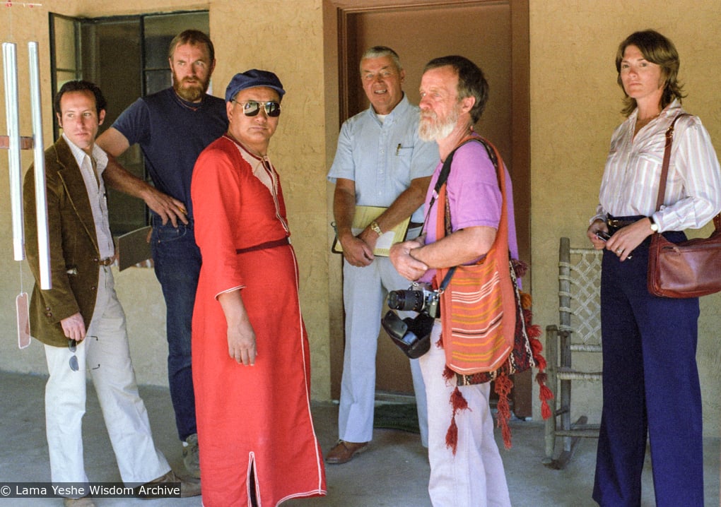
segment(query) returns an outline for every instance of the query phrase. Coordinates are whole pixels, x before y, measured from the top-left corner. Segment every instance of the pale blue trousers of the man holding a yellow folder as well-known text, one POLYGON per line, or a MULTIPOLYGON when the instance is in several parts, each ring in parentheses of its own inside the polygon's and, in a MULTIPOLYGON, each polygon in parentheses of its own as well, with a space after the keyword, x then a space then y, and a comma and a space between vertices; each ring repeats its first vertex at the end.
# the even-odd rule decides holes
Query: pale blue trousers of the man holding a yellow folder
MULTIPOLYGON (((386 295, 410 285, 388 257, 376 257, 370 266, 355 267, 343 261, 345 306, 345 353, 340 383, 338 432, 340 439, 367 442, 373 438, 376 400, 376 352, 386 295)), ((401 318, 415 312, 399 312, 401 318)), ((385 332, 384 332, 385 333, 385 332)), ((386 339, 390 339, 387 338, 386 339)), ((402 354, 401 351, 397 351, 402 354)), ((420 441, 428 447, 428 409, 423 376, 417 359, 410 359, 413 390, 418 411, 420 441)))

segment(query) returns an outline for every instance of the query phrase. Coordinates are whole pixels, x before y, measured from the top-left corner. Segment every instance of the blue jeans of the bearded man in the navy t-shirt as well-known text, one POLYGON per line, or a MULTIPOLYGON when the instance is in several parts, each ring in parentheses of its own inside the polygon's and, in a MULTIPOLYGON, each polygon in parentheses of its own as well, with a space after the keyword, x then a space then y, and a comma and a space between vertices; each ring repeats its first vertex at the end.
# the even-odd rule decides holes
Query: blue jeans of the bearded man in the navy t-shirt
POLYGON ((155 276, 165 298, 168 340, 168 383, 181 440, 198 432, 195 426, 195 392, 191 369, 190 326, 195 290, 200 275, 200 248, 195 244, 193 222, 162 225, 153 220, 151 236, 155 276))

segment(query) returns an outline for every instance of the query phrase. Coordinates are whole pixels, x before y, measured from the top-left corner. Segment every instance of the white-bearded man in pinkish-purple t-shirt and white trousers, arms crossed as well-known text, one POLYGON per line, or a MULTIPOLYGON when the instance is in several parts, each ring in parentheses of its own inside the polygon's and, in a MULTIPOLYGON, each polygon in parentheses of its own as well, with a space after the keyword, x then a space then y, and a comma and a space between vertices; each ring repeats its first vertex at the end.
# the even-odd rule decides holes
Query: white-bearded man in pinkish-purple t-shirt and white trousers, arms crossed
MULTIPOLYGON (((426 234, 397 243, 390 256, 407 279, 432 282, 436 269, 473 264, 489 251, 498 229, 502 199, 497 171, 485 146, 466 142, 479 137, 473 127, 488 99, 482 71, 461 56, 435 58, 425 66, 420 97, 418 132, 420 138, 438 143, 441 163, 435 168, 425 198, 426 234), (437 240, 439 213, 432 198, 443 161, 454 150, 446 180, 451 233, 437 240)), ((508 242, 512 256, 517 258, 510 177, 503 169, 508 242)), ((441 280, 435 282, 438 287, 441 280)), ((437 318, 430 335, 430 350, 419 359, 428 398, 430 499, 434 507, 510 507, 503 462, 493 438, 490 382, 459 386, 455 374, 446 380, 446 354, 438 343, 441 331, 441 319, 437 318), (458 399, 456 389, 467 409, 462 403, 449 403, 458 399), (446 443, 451 420, 458 429, 455 447, 446 443)))

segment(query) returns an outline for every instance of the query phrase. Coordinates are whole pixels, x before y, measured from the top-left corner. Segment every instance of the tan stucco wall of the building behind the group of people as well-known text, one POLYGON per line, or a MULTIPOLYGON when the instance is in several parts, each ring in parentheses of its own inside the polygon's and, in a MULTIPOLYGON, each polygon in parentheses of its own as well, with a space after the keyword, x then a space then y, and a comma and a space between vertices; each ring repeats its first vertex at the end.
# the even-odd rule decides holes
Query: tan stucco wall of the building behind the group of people
MULTIPOLYGON (((558 238, 568 236, 574 245, 585 244, 587 218, 598 200, 603 162, 613 128, 622 121, 622 91, 616 85, 614 55, 618 43, 634 30, 653 27, 671 37, 681 53, 681 79, 689 97, 686 108, 699 114, 721 148, 721 101, 717 76, 721 55, 716 27, 721 23, 717 0, 693 2, 693 9, 678 2, 647 0, 629 4, 620 0, 530 0, 531 30, 531 277, 535 320, 545 327, 557 320, 558 238)), ((327 153, 335 148, 337 83, 332 76, 333 55, 324 61, 324 30, 335 22, 322 0, 43 0, 40 8, 0 6, 4 40, 19 44, 21 80, 27 76, 28 40, 40 42, 43 78, 45 138, 50 131, 50 76, 48 12, 79 16, 107 16, 137 12, 209 9, 211 35, 218 66, 213 90, 222 95, 229 78, 247 68, 269 68, 278 73, 288 94, 283 117, 270 153, 278 166, 288 204, 288 215, 301 266, 301 298, 311 339, 312 394, 329 399, 329 308, 337 310, 340 284, 337 266, 329 259, 327 231, 329 187, 325 183, 327 153), (292 8, 289 8, 291 6, 292 8), (242 12, 252 12, 245 19, 242 12), (327 130, 329 134, 327 135, 327 130), (329 288, 332 287, 332 288, 329 288)), ((325 48, 327 50, 327 48, 325 48)), ((429 58, 433 56, 429 49, 429 58)), ((1 86, 1 84, 0 84, 1 86)), ((25 90, 21 133, 30 133, 29 99, 25 90)), ((4 111, 4 105, 1 106, 4 111)), ((4 133, 5 117, 0 117, 4 133)), ((23 155, 23 167, 31 162, 23 155)), ((7 162, 0 153, 0 242, 12 239, 9 224, 7 162)), ((21 267, 9 248, 0 256, 0 369, 44 372, 41 347, 26 351, 14 346, 14 297, 20 287, 21 267)), ((130 269, 116 277, 120 300, 128 313, 133 359, 138 380, 164 384, 164 304, 154 274, 130 269)), ((30 272, 22 267, 22 284, 32 287, 30 272)), ((704 433, 719 433, 721 352, 716 329, 721 296, 702 299, 699 333, 699 370, 704 397, 704 433)), ((337 313, 337 312, 336 312, 337 313)), ((333 313, 337 320, 337 315, 333 313)), ((337 323, 337 322, 336 322, 337 323)), ((580 393, 583 410, 597 419, 600 389, 580 393)), ((536 397, 534 396, 534 400, 536 397)), ((673 403, 673 400, 669 400, 673 403)), ((538 407, 534 409, 539 418, 538 407)))

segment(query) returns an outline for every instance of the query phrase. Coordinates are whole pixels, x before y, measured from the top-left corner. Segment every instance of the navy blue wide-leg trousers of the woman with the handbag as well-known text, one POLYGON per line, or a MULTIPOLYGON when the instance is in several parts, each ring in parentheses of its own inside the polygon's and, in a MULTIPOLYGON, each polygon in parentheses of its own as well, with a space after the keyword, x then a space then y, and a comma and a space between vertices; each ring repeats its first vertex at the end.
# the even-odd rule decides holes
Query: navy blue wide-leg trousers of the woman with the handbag
POLYGON ((703 507, 699 300, 648 293, 649 243, 623 262, 603 252, 603 411, 593 499, 602 507, 640 506, 648 436, 656 505, 703 507))

